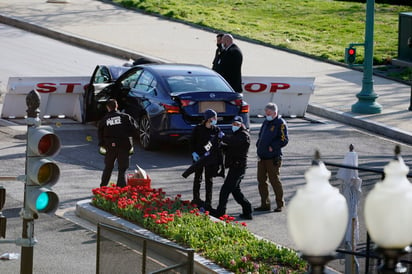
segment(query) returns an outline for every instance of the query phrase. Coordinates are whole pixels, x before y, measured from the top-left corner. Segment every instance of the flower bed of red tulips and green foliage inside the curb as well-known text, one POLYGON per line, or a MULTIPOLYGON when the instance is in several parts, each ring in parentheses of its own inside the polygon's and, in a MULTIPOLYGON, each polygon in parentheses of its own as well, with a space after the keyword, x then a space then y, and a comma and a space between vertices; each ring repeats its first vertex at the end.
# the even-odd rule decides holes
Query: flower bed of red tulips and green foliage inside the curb
POLYGON ((169 198, 162 189, 110 186, 93 189, 92 204, 136 223, 182 246, 190 247, 235 273, 303 273, 307 265, 298 254, 258 239, 225 215, 214 221, 180 195, 169 198))

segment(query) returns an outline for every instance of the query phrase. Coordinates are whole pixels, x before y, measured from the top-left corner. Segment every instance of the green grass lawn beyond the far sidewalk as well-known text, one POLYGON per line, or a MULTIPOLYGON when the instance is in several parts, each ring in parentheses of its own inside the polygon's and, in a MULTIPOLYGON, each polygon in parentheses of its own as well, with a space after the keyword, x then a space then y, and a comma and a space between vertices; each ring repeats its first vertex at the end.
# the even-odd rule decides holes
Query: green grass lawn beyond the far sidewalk
MULTIPOLYGON (((334 0, 114 0, 325 60, 344 62, 349 43, 363 43, 366 4, 334 0)), ((398 51, 398 18, 408 6, 375 4, 374 61, 398 51)), ((363 61, 363 49, 357 51, 363 61)))

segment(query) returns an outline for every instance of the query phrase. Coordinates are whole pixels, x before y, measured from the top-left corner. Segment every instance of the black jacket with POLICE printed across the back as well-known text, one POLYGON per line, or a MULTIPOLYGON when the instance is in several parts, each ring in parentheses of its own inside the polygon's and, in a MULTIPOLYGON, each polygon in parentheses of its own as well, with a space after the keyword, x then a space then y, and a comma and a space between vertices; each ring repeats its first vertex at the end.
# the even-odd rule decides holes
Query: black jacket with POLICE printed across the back
POLYGON ((130 115, 117 110, 108 112, 98 125, 99 146, 107 147, 110 143, 130 144, 129 137, 137 134, 135 120, 130 115))

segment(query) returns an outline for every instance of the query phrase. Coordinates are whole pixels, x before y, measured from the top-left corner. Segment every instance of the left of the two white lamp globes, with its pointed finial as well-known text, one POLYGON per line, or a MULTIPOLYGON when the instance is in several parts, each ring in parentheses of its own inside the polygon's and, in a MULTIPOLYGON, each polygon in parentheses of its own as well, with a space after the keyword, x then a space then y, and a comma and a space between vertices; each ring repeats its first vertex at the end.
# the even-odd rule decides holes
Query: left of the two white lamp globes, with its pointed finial
POLYGON ((329 184, 330 176, 316 152, 305 173, 307 184, 288 206, 289 233, 313 274, 324 273, 326 263, 335 258, 348 223, 346 199, 329 184))

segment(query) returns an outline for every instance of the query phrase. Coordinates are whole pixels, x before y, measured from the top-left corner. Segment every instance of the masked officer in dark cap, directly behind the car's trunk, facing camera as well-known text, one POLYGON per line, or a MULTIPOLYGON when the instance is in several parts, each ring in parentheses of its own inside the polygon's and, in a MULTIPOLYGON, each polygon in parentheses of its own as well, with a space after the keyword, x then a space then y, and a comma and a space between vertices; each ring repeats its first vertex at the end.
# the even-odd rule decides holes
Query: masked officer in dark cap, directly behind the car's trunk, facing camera
MULTIPOLYGON (((207 109, 203 114, 204 120, 192 131, 191 147, 192 158, 195 164, 193 179, 193 200, 192 204, 197 206, 210 206, 212 204, 213 177, 217 176, 219 164, 222 161, 220 142, 224 136, 223 131, 216 125, 217 113, 213 109, 207 109), (201 164, 196 164, 201 163, 201 164), (203 171, 205 173, 206 199, 200 198, 200 184, 202 182, 203 171)), ((190 175, 189 168, 182 176, 190 175)))

